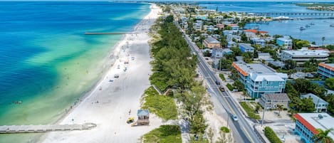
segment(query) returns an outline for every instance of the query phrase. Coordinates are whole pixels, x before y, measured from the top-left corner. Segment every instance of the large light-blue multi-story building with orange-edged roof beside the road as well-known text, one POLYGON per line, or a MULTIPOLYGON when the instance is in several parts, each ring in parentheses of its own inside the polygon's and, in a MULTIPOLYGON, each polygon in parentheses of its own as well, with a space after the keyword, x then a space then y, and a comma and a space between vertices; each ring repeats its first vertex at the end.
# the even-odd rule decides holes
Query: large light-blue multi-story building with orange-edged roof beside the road
POLYGON ((282 93, 286 88, 286 73, 276 73, 262 63, 232 63, 238 71, 239 80, 251 97, 263 94, 282 93))

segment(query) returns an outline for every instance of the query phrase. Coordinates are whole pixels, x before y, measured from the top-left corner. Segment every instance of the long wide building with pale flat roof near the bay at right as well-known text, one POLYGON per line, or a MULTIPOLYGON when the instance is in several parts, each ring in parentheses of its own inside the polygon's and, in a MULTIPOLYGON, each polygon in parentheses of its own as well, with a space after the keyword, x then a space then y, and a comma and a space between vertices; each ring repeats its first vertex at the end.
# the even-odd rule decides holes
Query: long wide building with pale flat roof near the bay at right
POLYGON ((310 58, 314 58, 317 61, 324 62, 328 60, 329 51, 323 50, 293 50, 293 51, 282 51, 281 52, 281 60, 294 60, 298 65, 305 63, 310 60, 310 58))

